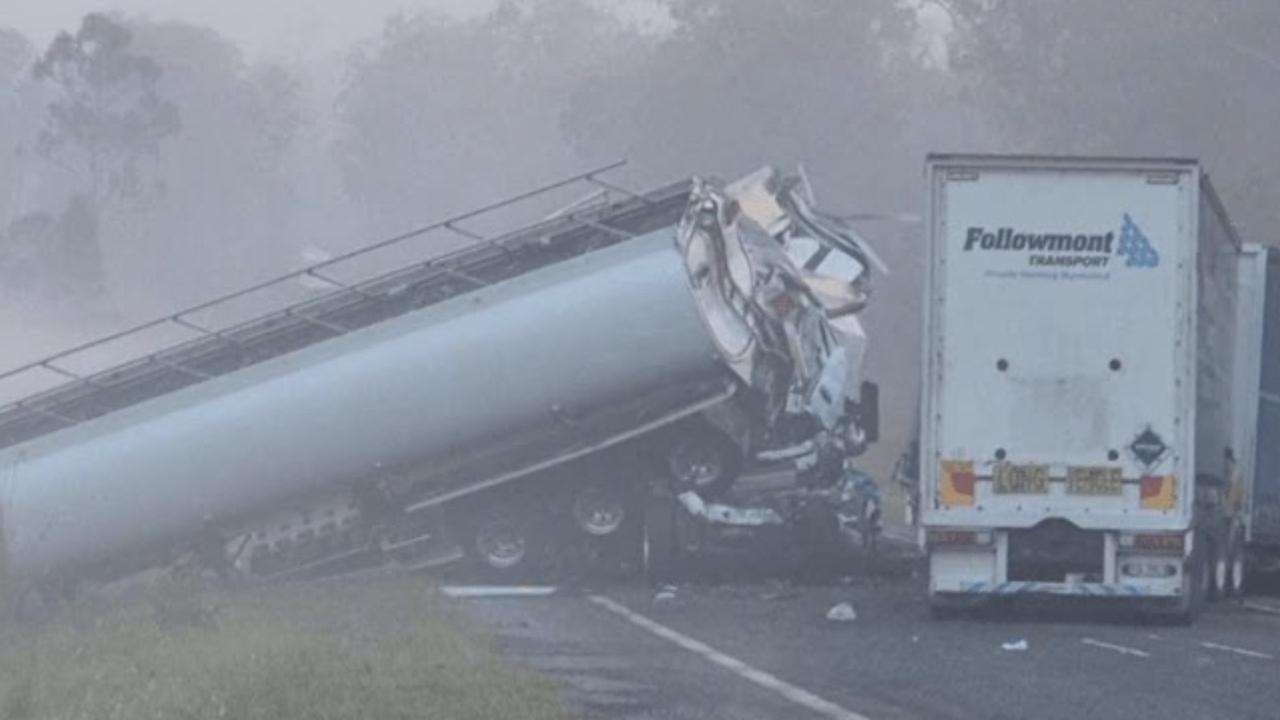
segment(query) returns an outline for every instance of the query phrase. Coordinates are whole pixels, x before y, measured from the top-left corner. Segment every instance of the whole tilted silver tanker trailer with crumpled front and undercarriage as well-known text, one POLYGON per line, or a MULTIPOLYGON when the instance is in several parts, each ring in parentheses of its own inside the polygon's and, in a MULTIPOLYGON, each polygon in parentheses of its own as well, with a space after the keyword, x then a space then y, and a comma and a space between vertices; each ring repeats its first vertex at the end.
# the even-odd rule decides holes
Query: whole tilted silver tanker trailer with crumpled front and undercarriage
MULTIPOLYGON (((552 187, 617 193, 602 172, 552 187)), ((196 337, 106 370, 72 369, 90 343, 4 374, 70 379, 0 409, 0 589, 179 553, 515 571, 549 528, 620 536, 655 479, 722 486, 778 428, 856 436, 846 348, 778 238, 717 183, 621 193, 495 237, 453 218, 410 236, 475 242, 370 279, 337 268, 410 236, 326 260, 142 325, 196 337), (201 322, 300 279, 301 302, 201 322)))

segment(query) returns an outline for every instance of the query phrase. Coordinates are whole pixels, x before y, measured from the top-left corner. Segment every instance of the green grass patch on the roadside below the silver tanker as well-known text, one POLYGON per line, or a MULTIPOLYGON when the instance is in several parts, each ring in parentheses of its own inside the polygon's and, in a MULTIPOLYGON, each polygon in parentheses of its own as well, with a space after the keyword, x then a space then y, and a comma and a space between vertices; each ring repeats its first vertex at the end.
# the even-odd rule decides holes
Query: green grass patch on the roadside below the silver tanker
POLYGON ((218 592, 163 579, 0 629, 0 717, 563 719, 554 685, 508 666, 425 583, 218 592))

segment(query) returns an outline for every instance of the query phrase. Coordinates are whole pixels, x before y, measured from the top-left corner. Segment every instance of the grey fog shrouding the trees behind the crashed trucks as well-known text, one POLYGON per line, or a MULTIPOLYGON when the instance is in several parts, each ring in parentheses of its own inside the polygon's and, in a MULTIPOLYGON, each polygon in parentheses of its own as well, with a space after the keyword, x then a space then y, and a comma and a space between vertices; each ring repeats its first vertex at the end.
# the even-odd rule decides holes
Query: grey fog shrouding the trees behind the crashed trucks
POLYGON ((5 366, 602 161, 636 188, 803 163, 892 268, 868 310, 884 468, 915 397, 925 152, 1199 156, 1247 237, 1280 223, 1261 0, 8 10, 5 366))

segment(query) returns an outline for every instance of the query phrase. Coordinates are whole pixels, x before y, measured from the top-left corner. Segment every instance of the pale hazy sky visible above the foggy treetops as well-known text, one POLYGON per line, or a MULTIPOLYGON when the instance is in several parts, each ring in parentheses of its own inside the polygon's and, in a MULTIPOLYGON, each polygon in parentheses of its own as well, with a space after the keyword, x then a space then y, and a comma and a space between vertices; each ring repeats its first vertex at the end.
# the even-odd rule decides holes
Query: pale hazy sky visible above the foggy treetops
MULTIPOLYGON (((151 19, 180 19, 212 27, 250 55, 316 59, 344 51, 378 35, 398 10, 430 9, 449 15, 480 14, 497 0, 3 0, 0 26, 24 32, 44 46, 86 13, 120 10, 151 19)), ((599 0, 641 22, 660 22, 662 0, 599 0)))

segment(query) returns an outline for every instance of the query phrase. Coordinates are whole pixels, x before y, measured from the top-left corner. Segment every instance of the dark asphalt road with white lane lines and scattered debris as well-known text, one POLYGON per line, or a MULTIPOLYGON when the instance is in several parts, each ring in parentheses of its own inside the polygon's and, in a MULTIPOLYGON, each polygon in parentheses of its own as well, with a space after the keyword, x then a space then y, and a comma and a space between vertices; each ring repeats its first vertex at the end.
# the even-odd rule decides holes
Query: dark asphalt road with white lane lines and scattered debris
POLYGON ((923 597, 919 578, 897 578, 457 602, 590 717, 1280 717, 1280 598, 1184 628, 1110 607, 934 621, 923 597), (856 619, 828 620, 840 602, 856 619))

